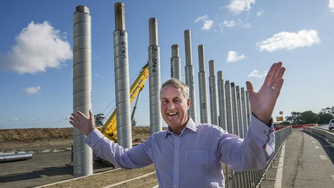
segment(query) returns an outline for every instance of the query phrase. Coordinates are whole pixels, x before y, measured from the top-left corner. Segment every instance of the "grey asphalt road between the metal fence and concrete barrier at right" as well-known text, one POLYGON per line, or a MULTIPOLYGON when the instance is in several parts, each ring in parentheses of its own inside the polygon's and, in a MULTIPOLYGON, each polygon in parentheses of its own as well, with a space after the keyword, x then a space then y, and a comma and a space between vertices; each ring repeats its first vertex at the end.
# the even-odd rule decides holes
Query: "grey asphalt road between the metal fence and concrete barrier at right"
POLYGON ((286 142, 282 187, 333 187, 334 149, 321 138, 292 131, 286 142))

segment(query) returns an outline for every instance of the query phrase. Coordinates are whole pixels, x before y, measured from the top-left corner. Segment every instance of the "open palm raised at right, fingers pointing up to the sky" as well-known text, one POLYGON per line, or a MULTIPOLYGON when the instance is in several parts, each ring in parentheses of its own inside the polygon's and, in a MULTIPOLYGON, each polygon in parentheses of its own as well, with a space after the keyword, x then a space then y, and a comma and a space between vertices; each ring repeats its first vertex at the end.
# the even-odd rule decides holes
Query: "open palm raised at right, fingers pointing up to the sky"
POLYGON ((246 82, 250 108, 254 116, 265 124, 270 124, 272 111, 283 86, 285 67, 282 65, 282 62, 272 64, 265 82, 258 92, 254 91, 251 82, 246 82))

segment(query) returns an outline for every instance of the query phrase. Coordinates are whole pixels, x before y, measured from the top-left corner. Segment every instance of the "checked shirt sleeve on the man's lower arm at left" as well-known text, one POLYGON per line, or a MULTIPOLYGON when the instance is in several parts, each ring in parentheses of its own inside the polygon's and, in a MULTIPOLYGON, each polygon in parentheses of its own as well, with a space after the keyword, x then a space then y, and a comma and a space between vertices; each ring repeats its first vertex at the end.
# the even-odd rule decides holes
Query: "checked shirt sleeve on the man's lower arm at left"
POLYGON ((98 129, 94 129, 84 141, 98 157, 113 163, 115 166, 132 169, 153 163, 150 157, 151 137, 145 142, 127 149, 103 136, 98 129))

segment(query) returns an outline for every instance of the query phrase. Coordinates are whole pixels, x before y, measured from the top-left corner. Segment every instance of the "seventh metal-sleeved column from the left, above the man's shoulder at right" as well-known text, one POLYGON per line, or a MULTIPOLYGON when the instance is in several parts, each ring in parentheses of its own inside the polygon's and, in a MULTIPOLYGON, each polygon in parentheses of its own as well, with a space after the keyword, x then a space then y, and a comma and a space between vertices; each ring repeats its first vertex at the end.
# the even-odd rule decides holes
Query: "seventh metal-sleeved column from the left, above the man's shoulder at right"
POLYGON ((217 88, 215 77, 215 64, 213 60, 209 61, 209 91, 210 91, 210 114, 211 124, 219 125, 218 123, 218 108, 217 108, 217 88))

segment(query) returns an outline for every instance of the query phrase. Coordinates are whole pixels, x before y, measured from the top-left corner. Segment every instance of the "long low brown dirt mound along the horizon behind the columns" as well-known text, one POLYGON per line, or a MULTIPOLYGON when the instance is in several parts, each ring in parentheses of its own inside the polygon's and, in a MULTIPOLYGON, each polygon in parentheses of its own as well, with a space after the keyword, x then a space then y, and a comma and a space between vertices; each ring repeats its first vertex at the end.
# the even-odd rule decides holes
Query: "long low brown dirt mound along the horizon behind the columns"
MULTIPOLYGON (((133 138, 147 139, 150 127, 132 127, 133 138)), ((0 129, 0 142, 53 141, 72 139, 73 128, 16 128, 0 129)))

